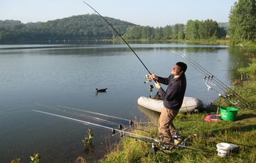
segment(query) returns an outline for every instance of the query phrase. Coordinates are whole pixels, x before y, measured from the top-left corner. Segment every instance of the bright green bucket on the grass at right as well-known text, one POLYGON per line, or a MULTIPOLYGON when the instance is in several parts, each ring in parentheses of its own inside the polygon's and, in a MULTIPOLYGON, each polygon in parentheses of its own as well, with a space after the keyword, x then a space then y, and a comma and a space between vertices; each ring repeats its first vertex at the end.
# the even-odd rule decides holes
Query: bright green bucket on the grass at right
POLYGON ((221 107, 220 115, 223 120, 233 121, 238 114, 238 108, 221 107))

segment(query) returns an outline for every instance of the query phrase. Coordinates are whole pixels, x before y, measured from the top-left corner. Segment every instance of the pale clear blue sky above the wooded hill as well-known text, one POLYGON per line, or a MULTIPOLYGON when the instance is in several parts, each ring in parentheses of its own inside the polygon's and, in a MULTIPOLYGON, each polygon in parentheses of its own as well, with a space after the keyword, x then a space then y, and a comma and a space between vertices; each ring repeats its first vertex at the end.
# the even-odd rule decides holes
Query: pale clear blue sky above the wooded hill
MULTIPOLYGON (((164 27, 188 20, 229 21, 238 0, 84 0, 102 16, 141 26, 164 27)), ((95 13, 82 0, 0 0, 0 20, 22 23, 95 13)))

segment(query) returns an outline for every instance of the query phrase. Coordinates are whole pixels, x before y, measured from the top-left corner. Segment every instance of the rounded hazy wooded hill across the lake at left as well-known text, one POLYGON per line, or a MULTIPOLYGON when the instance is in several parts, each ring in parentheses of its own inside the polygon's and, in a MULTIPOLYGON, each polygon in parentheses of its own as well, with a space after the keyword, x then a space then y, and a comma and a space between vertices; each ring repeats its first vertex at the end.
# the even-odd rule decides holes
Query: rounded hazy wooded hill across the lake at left
MULTIPOLYGON (((123 35, 127 28, 137 26, 119 19, 105 17, 123 35)), ((0 21, 0 43, 21 43, 55 40, 102 40, 117 34, 96 14, 71 16, 46 23, 0 21)))

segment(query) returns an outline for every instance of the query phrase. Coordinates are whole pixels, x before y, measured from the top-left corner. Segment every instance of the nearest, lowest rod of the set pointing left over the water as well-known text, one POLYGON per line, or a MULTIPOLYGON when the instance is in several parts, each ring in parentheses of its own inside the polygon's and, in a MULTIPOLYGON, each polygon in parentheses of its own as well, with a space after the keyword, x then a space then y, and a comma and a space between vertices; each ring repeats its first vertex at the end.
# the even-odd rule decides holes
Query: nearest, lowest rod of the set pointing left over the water
POLYGON ((144 138, 144 139, 148 140, 148 142, 158 142, 162 145, 174 145, 175 147, 181 147, 181 148, 186 148, 186 149, 190 149, 190 150, 196 150, 196 151, 199 151, 199 152, 207 152, 206 150, 201 150, 201 149, 197 149, 197 148, 193 148, 193 147, 187 147, 187 146, 184 146, 184 145, 177 145, 177 144, 174 144, 172 142, 163 142, 162 140, 155 139, 153 137, 147 137, 147 136, 144 136, 144 135, 131 133, 131 132, 128 132, 128 131, 125 131, 125 130, 110 128, 110 127, 107 127, 105 125, 90 123, 90 122, 87 122, 85 120, 78 120, 78 119, 75 119, 75 118, 70 118, 70 117, 67 117, 67 116, 61 116, 61 115, 54 114, 54 113, 48 113, 48 112, 45 112, 45 111, 38 111, 38 110, 34 110, 34 109, 32 109, 31 111, 38 112, 38 113, 44 113, 44 114, 47 114, 47 115, 50 115, 50 116, 56 116, 58 118, 63 118, 63 119, 67 119, 67 120, 72 120, 74 122, 77 122, 77 123, 80 123, 80 124, 83 124, 83 125, 90 125, 90 126, 94 126, 94 127, 98 127, 98 128, 104 128, 106 130, 111 130, 112 135, 114 135, 116 132, 118 132, 118 133, 120 133, 121 136, 127 134, 128 136, 137 137, 138 139, 139 138, 144 138))

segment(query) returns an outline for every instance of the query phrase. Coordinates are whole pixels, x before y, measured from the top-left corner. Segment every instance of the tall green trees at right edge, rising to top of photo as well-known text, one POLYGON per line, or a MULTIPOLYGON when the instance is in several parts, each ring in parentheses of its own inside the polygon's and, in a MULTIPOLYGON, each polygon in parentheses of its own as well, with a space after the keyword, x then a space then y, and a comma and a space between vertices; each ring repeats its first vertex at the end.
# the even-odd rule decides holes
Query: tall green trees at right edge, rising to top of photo
POLYGON ((256 0, 239 0, 230 10, 230 41, 239 43, 256 38, 256 0))

